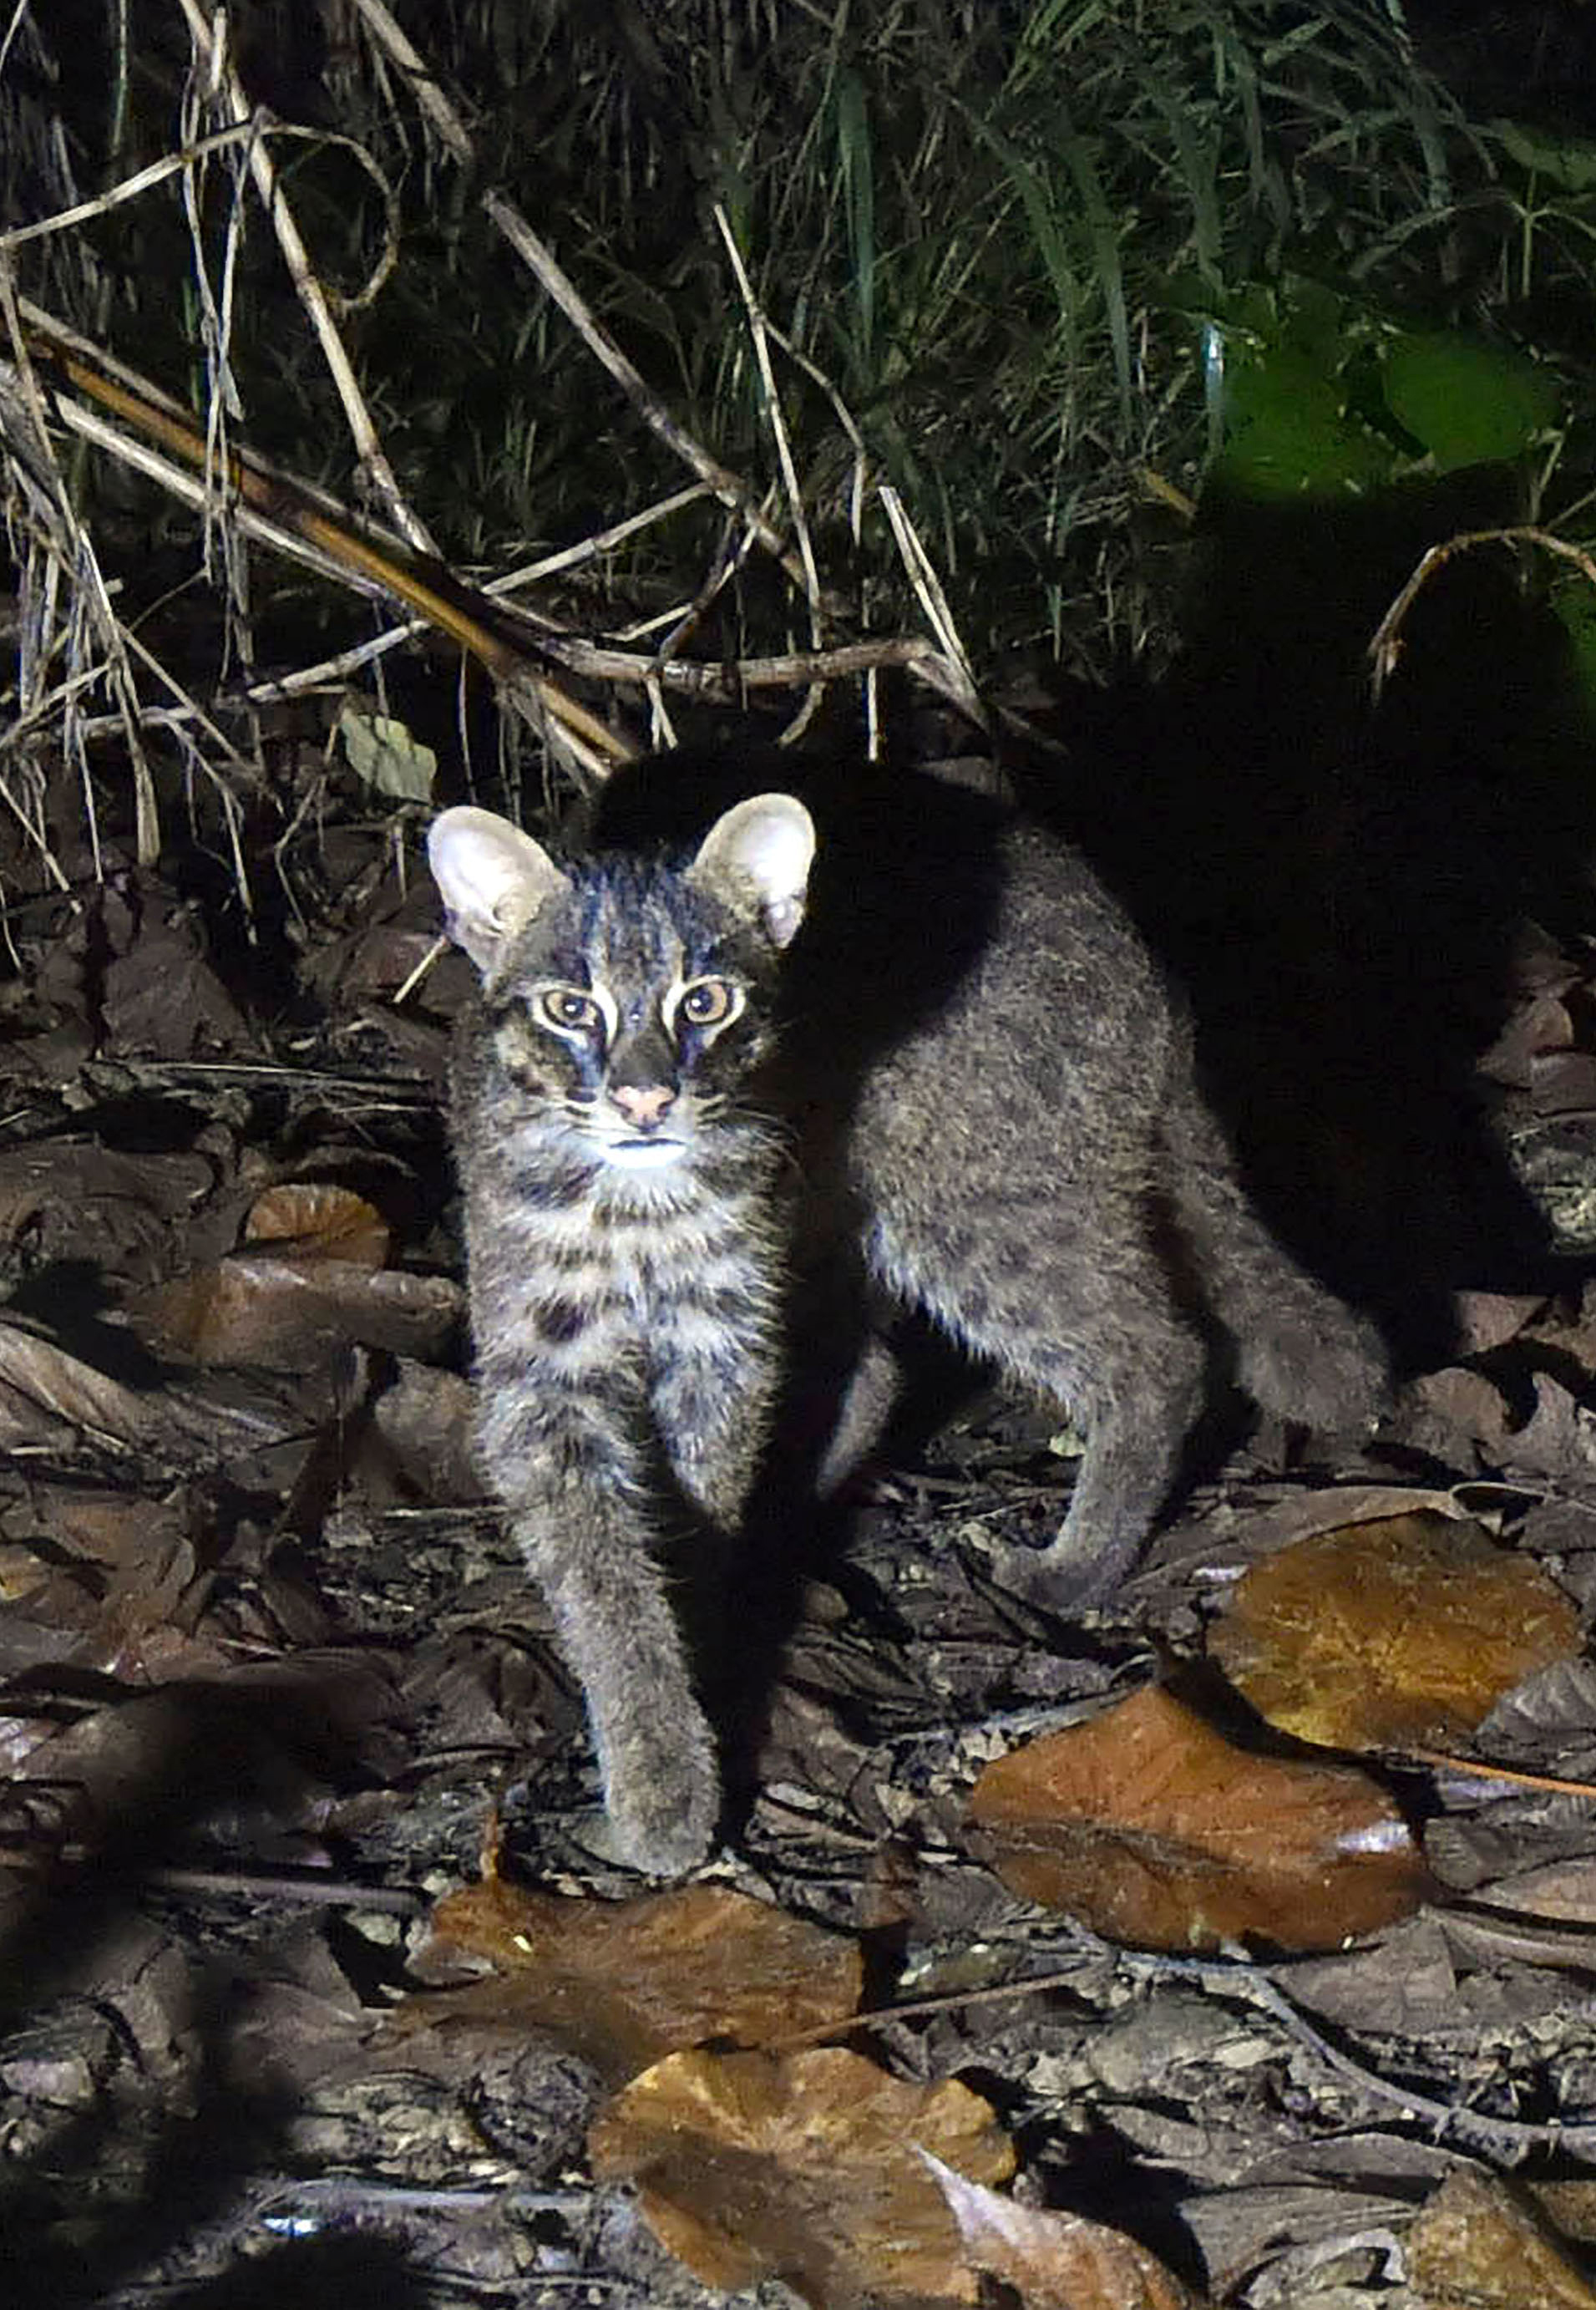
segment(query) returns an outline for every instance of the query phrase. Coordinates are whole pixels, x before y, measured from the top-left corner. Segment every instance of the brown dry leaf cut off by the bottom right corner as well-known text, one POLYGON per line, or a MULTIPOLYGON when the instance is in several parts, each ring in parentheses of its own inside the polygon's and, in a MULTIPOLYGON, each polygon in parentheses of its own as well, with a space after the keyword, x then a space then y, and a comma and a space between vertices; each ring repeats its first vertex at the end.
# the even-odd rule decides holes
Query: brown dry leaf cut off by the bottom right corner
POLYGON ((1460 2167, 1407 2234, 1425 2310, 1596 2310, 1596 2289, 1552 2231, 1494 2174, 1460 2167))

